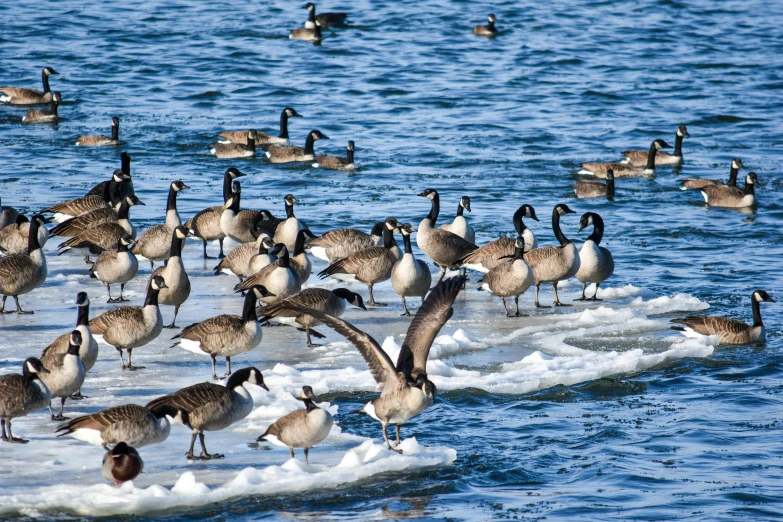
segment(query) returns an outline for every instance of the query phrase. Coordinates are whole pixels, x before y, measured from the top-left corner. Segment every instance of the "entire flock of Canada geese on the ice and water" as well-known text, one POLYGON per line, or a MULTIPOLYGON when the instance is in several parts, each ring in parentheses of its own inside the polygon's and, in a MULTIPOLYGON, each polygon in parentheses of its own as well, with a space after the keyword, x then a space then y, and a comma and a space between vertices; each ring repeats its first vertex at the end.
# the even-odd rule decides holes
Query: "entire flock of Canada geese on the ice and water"
MULTIPOLYGON (((304 28, 291 31, 291 38, 320 41, 321 27, 339 27, 345 23, 345 13, 316 14, 314 4, 308 3, 304 7, 308 10, 308 20, 304 28)), ((497 34, 495 16, 489 15, 488 22, 488 25, 474 27, 473 33, 494 37, 497 34)), ((49 109, 29 109, 23 122, 56 123, 62 98, 58 92, 52 92, 49 85, 49 77, 56 74, 50 67, 43 70, 43 91, 0 87, 0 102, 50 104, 49 109)), ((276 136, 256 129, 221 132, 210 152, 217 158, 252 158, 258 148, 271 163, 308 162, 317 168, 356 168, 353 141, 348 142, 346 157, 316 154, 315 142, 327 139, 319 130, 307 134, 303 147, 290 145, 289 119, 300 116, 295 109, 284 108, 276 136)), ((112 118, 110 136, 78 136, 75 144, 118 145, 119 123, 118 117, 112 118)), ((663 150, 669 145, 656 139, 647 150, 623 152, 625 159, 622 161, 582 164, 580 172, 605 179, 605 183, 579 181, 574 185, 577 197, 612 198, 617 178, 649 178, 659 166, 682 165, 683 139, 688 136, 685 125, 680 125, 671 154, 663 150)), ((683 188, 700 190, 709 206, 755 206, 756 174, 749 173, 744 188, 740 189, 737 176, 742 168, 741 160, 734 159, 727 183, 686 179, 683 188)), ((268 391, 261 371, 251 366, 232 372, 231 358, 259 346, 263 338, 262 325, 274 320, 301 329, 306 334, 308 346, 314 345, 313 337, 323 337, 314 328, 326 325, 357 348, 381 389, 380 396, 366 404, 362 411, 381 423, 386 446, 401 453, 398 448, 400 426, 435 400, 436 387, 427 376, 427 358, 433 340, 453 314, 452 305, 458 293, 466 286, 467 270, 482 273, 478 290, 499 297, 508 317, 526 315, 520 312, 519 298, 533 285, 535 307, 548 308, 539 300, 542 283, 552 285, 554 306, 570 306, 561 302, 558 283, 571 277, 582 283, 578 300, 600 301, 598 287, 614 272, 612 253, 601 246, 604 234, 601 216, 586 212, 580 217, 577 232, 586 228, 592 231, 582 247, 577 248, 561 228, 561 220, 575 213, 566 204, 557 204, 552 210, 551 225, 558 242, 552 246, 539 247, 535 234, 526 227, 524 219, 538 221, 535 209, 527 204, 513 213, 513 237, 479 246, 475 231, 465 216, 465 211, 471 212, 470 197, 460 198, 453 221, 439 225, 440 195, 433 188, 418 194, 429 200, 430 207, 418 227, 387 217, 378 221, 369 232, 341 228, 316 234, 295 215, 295 205, 299 201, 292 194, 283 197, 285 216, 276 217, 269 210, 242 208, 242 189, 238 180, 243 176, 245 174, 238 168, 228 168, 223 174, 219 204, 198 212, 184 223, 177 210, 177 198, 190 187, 181 180, 172 181, 163 221, 142 234, 130 217, 131 209, 144 203, 135 194, 131 157, 125 152, 121 154, 120 169, 83 197, 50 205, 30 217, 11 206, 0 206, 0 251, 3 253, 0 257, 0 293, 3 295, 0 311, 4 314, 12 313, 5 309, 9 296, 15 301, 16 313, 33 313, 21 308, 19 296, 34 291, 46 281, 48 272, 43 246, 52 236, 63 239, 57 247, 57 255, 76 253, 84 256, 90 265, 90 277, 106 287, 109 303, 127 301, 123 296, 124 287, 138 275, 139 258, 149 261, 151 270, 142 306, 121 305, 90 318, 90 299, 86 292, 79 292, 75 328, 55 339, 40 357, 27 358, 21 374, 0 377, 3 441, 28 442, 12 434, 13 419, 48 407, 53 421, 69 421, 56 429, 59 436, 71 435, 106 449, 102 472, 116 484, 138 476, 143 462, 137 449, 164 441, 172 423, 191 429, 187 458, 220 458, 222 455, 207 451, 204 433, 222 430, 251 412, 253 399, 246 385, 260 386, 268 391), (52 220, 58 224, 47 229, 52 220), (440 269, 434 286, 428 263, 413 253, 411 236, 414 233, 419 250, 440 269), (402 248, 396 235, 402 239, 402 248), (182 251, 189 237, 201 240, 205 259, 210 257, 208 245, 219 242, 217 257, 220 261, 214 272, 236 276, 238 283, 234 290, 243 295, 244 302, 241 315, 205 318, 182 328, 172 340, 174 346, 209 355, 213 380, 218 379, 217 358, 225 358, 225 384, 199 383, 159 397, 145 406, 125 404, 72 420, 64 417, 66 399, 84 398, 81 387, 98 358, 98 342, 117 350, 123 370, 139 370, 143 366, 133 364, 133 351, 158 338, 164 328, 178 328, 177 315, 191 293, 191 281, 182 262, 182 251), (227 255, 223 243, 226 238, 239 243, 227 255), (328 263, 317 274, 318 278, 366 285, 366 304, 362 295, 348 288, 303 288, 312 276, 310 256, 328 263), (156 268, 155 263, 160 266, 156 268), (459 274, 446 278, 449 270, 459 274), (375 300, 373 289, 376 284, 389 280, 402 300, 403 315, 411 315, 409 298, 422 300, 396 362, 373 337, 340 319, 348 305, 361 309, 385 306, 375 300), (595 290, 588 297, 589 284, 593 284, 595 290), (115 286, 114 294, 112 285, 115 286), (513 308, 507 299, 513 299, 513 308), (173 307, 168 325, 164 325, 161 305, 173 307), (58 413, 53 409, 55 399, 60 399, 58 413), (395 444, 388 437, 390 424, 396 428, 395 444), (194 454, 196 439, 201 446, 199 456, 194 454)), ((765 332, 759 303, 772 301, 763 290, 753 292, 752 325, 724 317, 694 316, 674 319, 672 328, 687 335, 717 335, 722 344, 763 341, 765 332)), ((328 435, 334 419, 328 411, 317 406, 318 398, 310 386, 302 388, 298 399, 304 408, 277 420, 258 440, 288 447, 292 458, 294 449, 302 448, 307 462, 309 450, 328 435)))

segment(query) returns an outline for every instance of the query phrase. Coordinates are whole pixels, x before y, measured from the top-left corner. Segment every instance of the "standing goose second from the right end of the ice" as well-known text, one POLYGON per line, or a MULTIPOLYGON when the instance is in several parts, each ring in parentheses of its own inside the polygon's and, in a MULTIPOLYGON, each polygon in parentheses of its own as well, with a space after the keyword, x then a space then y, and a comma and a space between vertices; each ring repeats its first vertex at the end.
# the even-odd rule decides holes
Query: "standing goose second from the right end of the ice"
POLYGON ((571 306, 561 303, 560 298, 557 297, 558 281, 573 277, 579 271, 579 253, 576 246, 560 230, 560 216, 563 214, 576 214, 576 212, 562 203, 552 210, 552 231, 560 246, 536 248, 524 256, 536 281, 536 308, 549 308, 541 306, 538 302, 539 286, 549 281, 552 282, 552 291, 555 294, 555 306, 571 306))

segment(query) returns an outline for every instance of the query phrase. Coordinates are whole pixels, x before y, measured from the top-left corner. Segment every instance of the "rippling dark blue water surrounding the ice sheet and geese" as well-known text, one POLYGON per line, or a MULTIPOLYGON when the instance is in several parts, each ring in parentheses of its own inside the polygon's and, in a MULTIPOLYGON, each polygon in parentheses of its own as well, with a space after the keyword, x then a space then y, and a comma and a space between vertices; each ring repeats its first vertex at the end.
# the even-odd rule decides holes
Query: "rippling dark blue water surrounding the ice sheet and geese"
MULTIPOLYGON (((551 244, 549 209, 565 201, 604 217, 617 264, 608 286, 688 293, 711 313, 746 320, 755 288, 783 300, 780 4, 329 3, 319 10, 350 11, 351 27, 326 31, 317 47, 287 38, 305 17, 298 3, 0 5, 1 82, 36 86, 49 65, 66 100, 57 127, 22 126, 22 110, 0 110, 3 201, 27 210, 81 195, 127 150, 148 205, 137 222, 159 221, 174 178, 193 187, 180 199, 189 216, 219 199, 220 175, 234 163, 209 155, 216 133, 274 131, 292 106, 305 116, 291 122, 292 142, 315 128, 332 138, 317 151, 343 153, 355 140, 363 169, 237 162, 250 174, 248 206, 282 213, 292 192, 314 230, 364 228, 386 215, 416 223, 427 204, 415 194, 432 186, 446 214, 459 195, 472 196, 482 241, 533 204, 539 241, 551 244), (489 12, 501 35, 473 37, 489 12), (72 146, 77 134, 108 133, 114 115, 122 149, 72 146), (672 142, 679 123, 692 136, 681 174, 619 180, 613 203, 573 199, 580 162, 655 137, 672 142), (681 176, 726 178, 735 156, 759 175, 758 211, 707 210, 698 194, 677 190, 681 176)), ((567 227, 573 234, 576 221, 567 227)), ((761 349, 717 349, 524 396, 445 393, 408 429, 457 449, 453 466, 241 498, 181 518, 775 518, 783 311, 773 304, 763 314, 761 349)), ((368 397, 335 402, 350 410, 368 397)), ((377 436, 370 420, 341 424, 377 436)))

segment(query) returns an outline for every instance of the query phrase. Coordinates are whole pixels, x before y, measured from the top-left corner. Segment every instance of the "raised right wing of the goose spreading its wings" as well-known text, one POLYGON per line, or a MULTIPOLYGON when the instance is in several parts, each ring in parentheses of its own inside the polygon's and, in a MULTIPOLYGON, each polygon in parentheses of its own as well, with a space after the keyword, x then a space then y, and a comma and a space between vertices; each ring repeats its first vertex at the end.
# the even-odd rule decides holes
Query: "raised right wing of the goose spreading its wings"
POLYGON ((430 354, 432 341, 454 313, 451 305, 454 304, 454 299, 457 298, 466 280, 464 276, 452 277, 432 289, 413 317, 408 333, 405 334, 397 361, 397 371, 410 375, 414 379, 419 374, 427 373, 427 357, 430 354), (406 349, 412 352, 412 359, 405 354, 406 349))

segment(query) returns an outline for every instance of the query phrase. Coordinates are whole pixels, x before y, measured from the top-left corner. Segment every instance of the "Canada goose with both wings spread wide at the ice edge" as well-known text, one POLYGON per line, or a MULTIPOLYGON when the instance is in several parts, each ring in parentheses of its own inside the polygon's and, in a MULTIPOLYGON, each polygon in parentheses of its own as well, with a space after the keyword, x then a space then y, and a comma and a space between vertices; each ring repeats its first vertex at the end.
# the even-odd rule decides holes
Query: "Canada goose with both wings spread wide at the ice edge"
POLYGON ((402 453, 402 450, 392 448, 386 428, 389 424, 396 425, 399 445, 400 426, 435 401, 435 384, 427 377, 427 357, 435 336, 454 313, 451 305, 465 280, 465 276, 452 277, 432 289, 408 327, 396 367, 369 334, 329 314, 307 308, 298 309, 302 313, 313 315, 348 339, 367 361, 370 372, 382 387, 382 391, 381 396, 367 403, 362 411, 381 422, 386 446, 398 453, 402 453))

